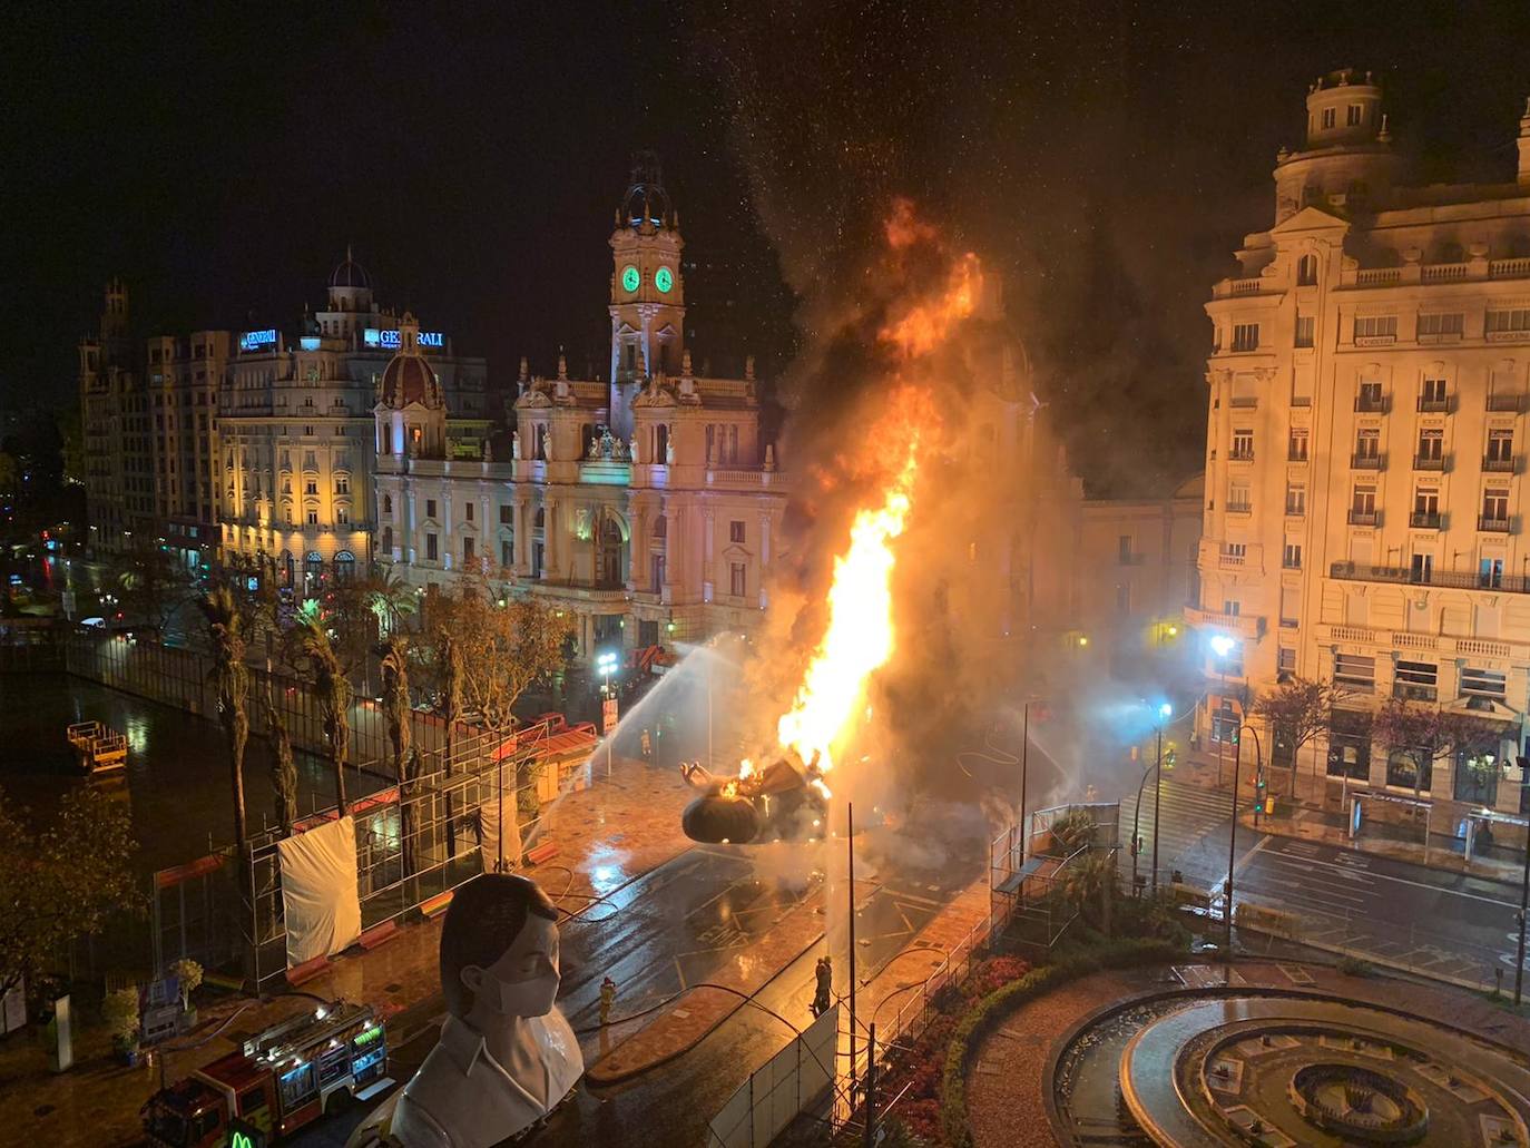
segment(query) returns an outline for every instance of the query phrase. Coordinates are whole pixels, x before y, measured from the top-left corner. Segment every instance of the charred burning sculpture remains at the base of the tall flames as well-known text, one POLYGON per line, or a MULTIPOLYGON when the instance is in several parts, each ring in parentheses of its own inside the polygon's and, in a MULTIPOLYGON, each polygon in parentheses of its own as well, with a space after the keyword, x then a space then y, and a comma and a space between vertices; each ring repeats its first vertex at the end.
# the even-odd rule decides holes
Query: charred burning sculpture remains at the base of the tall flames
POLYGON ((681 775, 701 790, 681 814, 681 827, 692 840, 747 845, 823 833, 831 794, 817 753, 803 762, 794 750, 783 750, 759 770, 744 759, 736 778, 721 778, 699 762, 682 764, 681 775))

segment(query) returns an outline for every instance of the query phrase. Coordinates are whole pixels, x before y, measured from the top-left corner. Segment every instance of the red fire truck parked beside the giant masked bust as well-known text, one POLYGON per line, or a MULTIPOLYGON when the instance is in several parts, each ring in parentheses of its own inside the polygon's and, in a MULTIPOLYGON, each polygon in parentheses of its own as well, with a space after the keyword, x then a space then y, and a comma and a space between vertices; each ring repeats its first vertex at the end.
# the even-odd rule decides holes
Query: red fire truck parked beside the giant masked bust
POLYGON ((263 1148, 367 1099, 387 1081, 387 1033, 367 1004, 301 1012, 148 1097, 141 1116, 156 1148, 263 1148))

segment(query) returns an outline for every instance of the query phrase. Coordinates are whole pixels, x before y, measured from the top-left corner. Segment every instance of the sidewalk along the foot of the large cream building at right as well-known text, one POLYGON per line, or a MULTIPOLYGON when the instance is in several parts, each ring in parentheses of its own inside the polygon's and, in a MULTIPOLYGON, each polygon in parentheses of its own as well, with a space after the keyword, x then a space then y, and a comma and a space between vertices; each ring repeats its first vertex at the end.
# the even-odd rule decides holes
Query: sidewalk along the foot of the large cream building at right
MULTIPOLYGON (((1207 790, 1227 793, 1232 785, 1232 768, 1233 762, 1230 758, 1221 762, 1221 767, 1218 768, 1216 755, 1192 752, 1184 755, 1184 761, 1174 770, 1172 776, 1175 781, 1190 782, 1207 790), (1218 773, 1221 773, 1221 784, 1218 784, 1218 773)), ((1253 804, 1255 788, 1253 770, 1248 768, 1248 762, 1244 762, 1241 773, 1242 776, 1239 778, 1238 787, 1239 805, 1242 808, 1248 808, 1253 804)), ((1429 869, 1460 872, 1509 885, 1516 889, 1519 888, 1522 879, 1521 865, 1481 856, 1467 862, 1454 851, 1458 848, 1455 837, 1434 833, 1431 834, 1431 840, 1438 843, 1431 843, 1426 850, 1424 843, 1418 840, 1421 831, 1375 819, 1365 823, 1360 836, 1351 837, 1343 810, 1330 810, 1320 802, 1314 802, 1311 799, 1314 793, 1320 794, 1328 787, 1325 778, 1314 779, 1310 773, 1299 773, 1299 801, 1293 804, 1285 793, 1285 787, 1290 784, 1290 773, 1287 770, 1279 770, 1273 775, 1267 773, 1265 776, 1270 781, 1271 791, 1276 793, 1276 808, 1290 808, 1290 813, 1261 816, 1259 823, 1255 825, 1253 811, 1248 810, 1239 816, 1239 827, 1250 830, 1256 828, 1261 833, 1268 833, 1276 837, 1296 837, 1300 840, 1333 845, 1340 850, 1353 850, 1354 853, 1374 853, 1380 857, 1409 862, 1429 869)), ((1353 788, 1363 787, 1354 785, 1353 788)))

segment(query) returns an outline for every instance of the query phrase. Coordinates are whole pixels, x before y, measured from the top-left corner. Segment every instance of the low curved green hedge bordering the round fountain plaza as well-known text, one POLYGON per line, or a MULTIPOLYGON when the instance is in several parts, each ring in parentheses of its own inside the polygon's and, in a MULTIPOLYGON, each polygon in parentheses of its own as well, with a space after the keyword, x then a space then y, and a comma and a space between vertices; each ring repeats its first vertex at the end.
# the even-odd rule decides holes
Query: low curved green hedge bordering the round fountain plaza
POLYGON ((1059 984, 1102 969, 1158 964, 1183 957, 1184 946, 1160 938, 1121 938, 1097 944, 1059 949, 1054 960, 1031 969, 1017 981, 994 989, 978 1001, 956 1024, 946 1050, 941 1076, 941 1127, 950 1148, 972 1148, 967 1124, 967 1070, 978 1045, 1016 1007, 1051 992, 1059 984))

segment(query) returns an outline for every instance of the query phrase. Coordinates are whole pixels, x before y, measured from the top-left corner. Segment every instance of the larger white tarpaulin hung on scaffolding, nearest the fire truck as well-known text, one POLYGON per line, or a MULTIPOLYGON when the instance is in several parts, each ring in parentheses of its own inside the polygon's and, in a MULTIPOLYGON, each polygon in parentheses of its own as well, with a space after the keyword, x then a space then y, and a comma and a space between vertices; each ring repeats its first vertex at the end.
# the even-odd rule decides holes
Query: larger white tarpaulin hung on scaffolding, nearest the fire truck
POLYGON ((361 935, 356 891, 356 822, 324 822, 277 842, 282 906, 288 926, 288 967, 334 957, 361 935))

